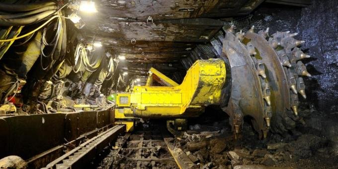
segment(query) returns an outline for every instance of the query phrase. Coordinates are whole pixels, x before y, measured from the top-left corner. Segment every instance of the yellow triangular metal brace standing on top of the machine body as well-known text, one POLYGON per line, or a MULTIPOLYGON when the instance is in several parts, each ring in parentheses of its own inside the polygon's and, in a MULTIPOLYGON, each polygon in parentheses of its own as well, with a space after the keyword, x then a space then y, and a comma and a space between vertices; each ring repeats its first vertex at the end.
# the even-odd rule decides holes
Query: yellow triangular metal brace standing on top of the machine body
POLYGON ((162 74, 155 68, 150 68, 150 70, 148 71, 148 79, 147 79, 146 86, 151 86, 154 80, 165 86, 177 86, 178 85, 176 82, 174 82, 173 80, 171 80, 170 78, 168 78, 166 75, 162 74))

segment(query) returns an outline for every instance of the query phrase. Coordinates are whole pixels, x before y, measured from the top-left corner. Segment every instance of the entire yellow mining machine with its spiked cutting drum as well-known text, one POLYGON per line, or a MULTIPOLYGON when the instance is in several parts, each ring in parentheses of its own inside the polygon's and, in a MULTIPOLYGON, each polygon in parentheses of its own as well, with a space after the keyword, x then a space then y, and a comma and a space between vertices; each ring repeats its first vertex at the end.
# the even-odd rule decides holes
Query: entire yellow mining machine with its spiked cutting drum
POLYGON ((297 46, 304 43, 290 32, 269 36, 268 29, 254 33, 226 31, 218 59, 197 60, 177 84, 151 68, 145 86, 117 93, 116 123, 132 130, 134 118, 167 118, 167 126, 183 130, 186 118, 219 105, 240 133, 244 116, 252 119, 260 138, 267 132, 283 133, 295 126, 298 93, 306 98, 301 76, 311 76, 300 61, 308 58, 297 46), (161 84, 161 86, 155 86, 161 84))

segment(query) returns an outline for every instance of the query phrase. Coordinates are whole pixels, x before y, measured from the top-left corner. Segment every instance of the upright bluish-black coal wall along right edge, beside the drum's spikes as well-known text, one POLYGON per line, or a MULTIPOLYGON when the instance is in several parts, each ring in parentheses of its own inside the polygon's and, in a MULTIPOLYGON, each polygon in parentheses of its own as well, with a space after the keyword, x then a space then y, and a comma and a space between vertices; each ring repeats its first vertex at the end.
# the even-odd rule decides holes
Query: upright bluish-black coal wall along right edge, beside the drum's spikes
POLYGON ((317 101, 323 110, 338 110, 338 1, 313 0, 311 6, 303 8, 298 21, 303 48, 315 58, 307 63, 314 76, 310 79, 317 85, 310 99, 317 101), (318 71, 318 72, 316 72, 318 71), (317 98, 317 100, 316 100, 317 98))

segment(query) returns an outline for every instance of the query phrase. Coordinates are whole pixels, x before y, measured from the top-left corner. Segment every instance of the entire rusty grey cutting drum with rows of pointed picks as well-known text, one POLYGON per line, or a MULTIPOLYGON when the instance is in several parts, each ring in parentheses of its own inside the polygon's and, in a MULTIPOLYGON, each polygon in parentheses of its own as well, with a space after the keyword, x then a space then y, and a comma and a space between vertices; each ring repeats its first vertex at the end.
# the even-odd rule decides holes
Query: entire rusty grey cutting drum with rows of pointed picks
POLYGON ((260 138, 266 138, 270 129, 287 132, 301 120, 297 93, 304 98, 306 94, 299 76, 311 75, 300 60, 310 56, 297 48, 304 41, 294 39, 295 35, 270 36, 268 29, 254 33, 254 26, 236 36, 233 26, 226 30, 222 56, 229 59, 232 86, 229 105, 223 110, 236 133, 241 132, 245 116, 251 117, 260 138))

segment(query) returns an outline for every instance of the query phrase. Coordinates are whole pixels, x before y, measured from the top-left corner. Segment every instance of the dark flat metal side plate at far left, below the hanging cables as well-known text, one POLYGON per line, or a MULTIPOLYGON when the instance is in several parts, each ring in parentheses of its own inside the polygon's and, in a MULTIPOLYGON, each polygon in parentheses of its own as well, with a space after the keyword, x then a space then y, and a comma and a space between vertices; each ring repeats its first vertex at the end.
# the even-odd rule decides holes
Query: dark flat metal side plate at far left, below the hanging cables
POLYGON ((13 116, 4 120, 9 131, 4 156, 28 159, 64 142, 63 113, 13 116))

